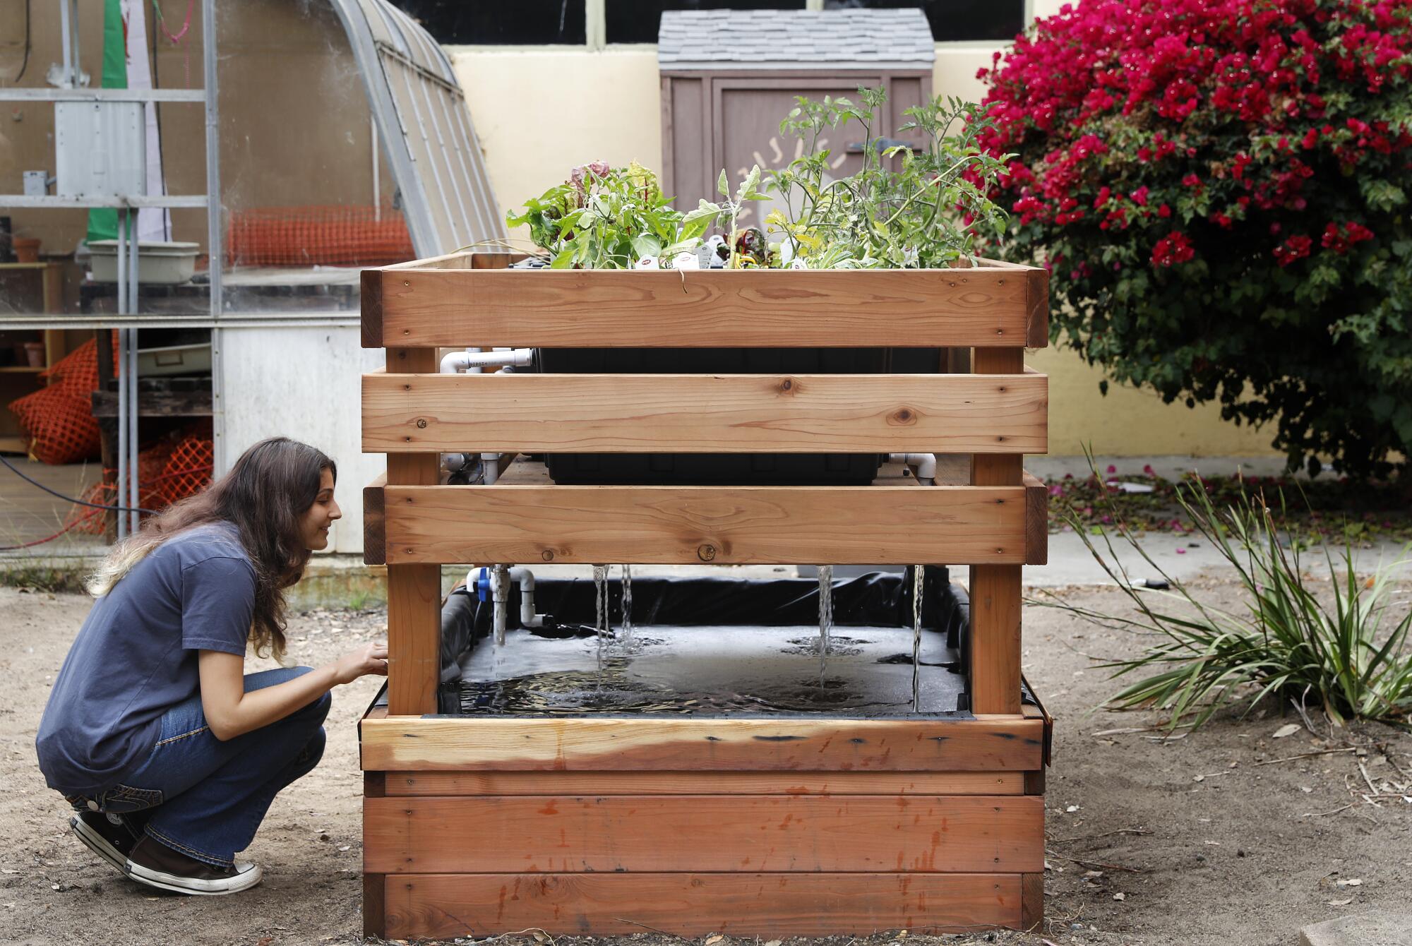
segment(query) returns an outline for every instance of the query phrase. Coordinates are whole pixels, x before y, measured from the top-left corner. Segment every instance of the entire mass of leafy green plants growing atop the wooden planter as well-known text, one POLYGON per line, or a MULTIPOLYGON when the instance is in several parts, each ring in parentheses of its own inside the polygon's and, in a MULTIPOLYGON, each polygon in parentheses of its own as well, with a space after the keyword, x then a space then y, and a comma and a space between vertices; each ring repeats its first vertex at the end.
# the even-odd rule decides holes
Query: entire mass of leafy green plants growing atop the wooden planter
POLYGON ((1010 155, 993 157, 979 147, 990 127, 984 109, 938 97, 908 109, 909 120, 898 128, 918 131, 919 148, 880 148, 873 128, 887 93, 863 88, 858 96, 861 106, 846 97, 799 97, 779 128, 801 136, 805 154, 764 181, 753 167, 734 193, 722 171, 716 185, 722 199, 700 200, 690 212, 672 209, 657 175, 637 162, 610 168, 596 161, 527 200, 524 212, 507 215, 507 222, 530 227, 551 267, 585 270, 633 268, 644 257, 669 261, 695 251, 714 226, 727 234, 729 268, 782 267, 794 260, 809 268, 946 267, 974 256, 980 233, 1004 232, 1007 217, 986 195, 1010 155), (864 130, 863 167, 832 179, 822 134, 854 120, 864 130), (789 208, 765 217, 771 233, 782 234, 775 247, 765 244, 764 233, 740 227, 746 203, 770 200, 770 192, 789 208))

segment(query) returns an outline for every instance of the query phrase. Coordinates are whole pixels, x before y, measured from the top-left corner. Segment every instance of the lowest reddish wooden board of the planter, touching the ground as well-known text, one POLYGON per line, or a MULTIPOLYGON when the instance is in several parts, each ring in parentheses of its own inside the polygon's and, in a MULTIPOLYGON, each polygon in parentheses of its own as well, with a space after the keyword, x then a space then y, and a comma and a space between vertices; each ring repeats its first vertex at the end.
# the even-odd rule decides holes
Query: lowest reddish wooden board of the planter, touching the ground
POLYGON ((1021 922, 1019 874, 401 874, 385 884, 388 939, 531 928, 765 939, 1021 922))

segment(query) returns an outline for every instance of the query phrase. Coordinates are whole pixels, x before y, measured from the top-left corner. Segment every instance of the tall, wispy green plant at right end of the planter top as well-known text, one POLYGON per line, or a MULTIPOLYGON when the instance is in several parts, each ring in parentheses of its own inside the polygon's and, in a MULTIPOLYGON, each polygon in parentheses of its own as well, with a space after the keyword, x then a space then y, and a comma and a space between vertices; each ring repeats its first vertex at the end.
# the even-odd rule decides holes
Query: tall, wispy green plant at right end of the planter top
POLYGON ((810 268, 931 268, 973 256, 979 233, 998 236, 1005 213, 987 193, 1012 155, 991 155, 980 144, 990 128, 986 109, 938 96, 909 117, 898 134, 918 133, 918 148, 880 141, 887 103, 882 88, 858 89, 861 104, 825 96, 796 97, 779 133, 803 140, 803 154, 770 175, 768 189, 785 209, 765 217, 782 233, 781 254, 810 268), (830 148, 819 147, 826 130, 850 121, 863 127, 863 167, 830 179, 830 148), (953 133, 953 126, 959 128, 953 133))

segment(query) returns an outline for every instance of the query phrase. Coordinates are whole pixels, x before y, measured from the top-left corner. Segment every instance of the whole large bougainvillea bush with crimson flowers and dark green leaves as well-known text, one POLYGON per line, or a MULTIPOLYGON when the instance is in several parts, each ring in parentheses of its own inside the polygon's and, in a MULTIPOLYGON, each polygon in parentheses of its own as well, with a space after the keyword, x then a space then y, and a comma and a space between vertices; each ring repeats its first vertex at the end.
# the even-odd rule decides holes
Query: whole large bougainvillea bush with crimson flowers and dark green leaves
MULTIPOLYGON (((1052 330, 1291 466, 1412 453, 1412 0, 1083 0, 983 71, 1052 330)), ((1405 463, 1405 459, 1402 460, 1405 463)))

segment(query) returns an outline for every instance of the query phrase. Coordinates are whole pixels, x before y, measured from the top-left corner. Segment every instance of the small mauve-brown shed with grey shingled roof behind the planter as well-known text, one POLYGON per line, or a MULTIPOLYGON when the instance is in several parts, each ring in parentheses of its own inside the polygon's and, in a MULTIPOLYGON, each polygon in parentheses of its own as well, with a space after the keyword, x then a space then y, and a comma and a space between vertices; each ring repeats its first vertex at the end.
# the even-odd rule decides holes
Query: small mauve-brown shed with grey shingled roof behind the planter
MULTIPOLYGON (((803 143, 779 120, 795 96, 856 96, 884 86, 890 107, 874 137, 897 133, 904 112, 932 96, 932 30, 921 10, 682 10, 662 14, 662 186, 681 209, 713 199, 716 175, 753 164, 782 168, 803 143)), ((857 171, 863 128, 840 128, 839 176, 857 171)), ((761 217, 768 209, 750 208, 761 217)), ((747 217, 747 222, 754 220, 747 217)))

